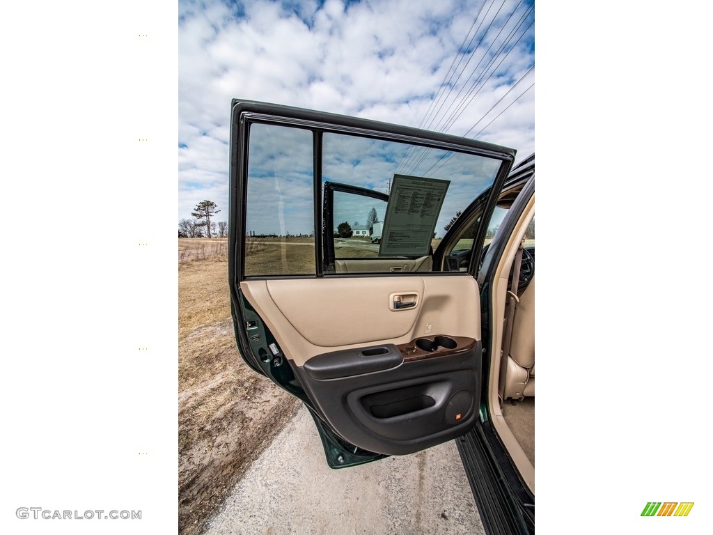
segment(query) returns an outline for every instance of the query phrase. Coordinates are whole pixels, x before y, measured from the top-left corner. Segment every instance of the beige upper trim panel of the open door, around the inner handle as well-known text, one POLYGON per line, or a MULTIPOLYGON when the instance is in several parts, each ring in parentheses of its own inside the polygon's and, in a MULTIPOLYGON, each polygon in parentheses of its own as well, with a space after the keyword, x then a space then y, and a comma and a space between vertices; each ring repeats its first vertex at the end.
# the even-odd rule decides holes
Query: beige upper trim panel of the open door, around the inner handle
POLYGON ((429 335, 481 339, 473 277, 250 280, 240 289, 298 366, 325 352, 429 335), (394 295, 419 298, 413 308, 394 310, 394 295))

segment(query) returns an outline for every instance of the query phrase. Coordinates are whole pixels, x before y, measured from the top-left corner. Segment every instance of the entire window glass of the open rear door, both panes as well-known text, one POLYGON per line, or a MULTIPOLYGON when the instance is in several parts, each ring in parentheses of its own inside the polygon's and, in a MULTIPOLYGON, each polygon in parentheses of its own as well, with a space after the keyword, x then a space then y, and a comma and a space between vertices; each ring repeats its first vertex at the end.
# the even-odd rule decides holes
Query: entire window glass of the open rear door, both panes
POLYGON ((451 220, 502 165, 317 126, 258 121, 247 132, 247 277, 318 276, 317 262, 324 275, 430 271, 451 220))

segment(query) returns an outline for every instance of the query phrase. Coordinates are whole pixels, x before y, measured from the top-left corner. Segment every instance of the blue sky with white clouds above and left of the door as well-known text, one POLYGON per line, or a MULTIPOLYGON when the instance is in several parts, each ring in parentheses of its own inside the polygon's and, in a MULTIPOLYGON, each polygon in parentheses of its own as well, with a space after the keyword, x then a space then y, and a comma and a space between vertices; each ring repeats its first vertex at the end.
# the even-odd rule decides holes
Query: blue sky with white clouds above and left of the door
POLYGON ((227 220, 230 101, 535 150, 533 0, 180 1, 178 218, 227 220))

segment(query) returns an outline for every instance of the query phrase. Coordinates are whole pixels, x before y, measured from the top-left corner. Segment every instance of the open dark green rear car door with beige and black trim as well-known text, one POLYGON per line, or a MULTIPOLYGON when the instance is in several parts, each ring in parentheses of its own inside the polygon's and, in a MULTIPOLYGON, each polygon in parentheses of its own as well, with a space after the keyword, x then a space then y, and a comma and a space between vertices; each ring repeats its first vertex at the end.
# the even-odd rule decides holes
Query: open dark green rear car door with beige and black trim
POLYGON ((470 431, 483 387, 476 277, 515 151, 238 100, 230 143, 240 354, 304 402, 329 466, 470 431), (457 248, 466 260, 443 254, 446 228, 476 209, 457 248))

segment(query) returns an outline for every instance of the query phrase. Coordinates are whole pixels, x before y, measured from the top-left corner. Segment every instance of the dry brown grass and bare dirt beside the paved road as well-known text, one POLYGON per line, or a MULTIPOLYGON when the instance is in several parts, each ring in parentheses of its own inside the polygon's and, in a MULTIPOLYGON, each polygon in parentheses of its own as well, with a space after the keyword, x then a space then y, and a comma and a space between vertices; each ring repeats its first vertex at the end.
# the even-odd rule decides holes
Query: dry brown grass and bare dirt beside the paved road
POLYGON ((178 531, 185 535, 205 529, 299 407, 237 351, 221 241, 179 240, 178 531))

